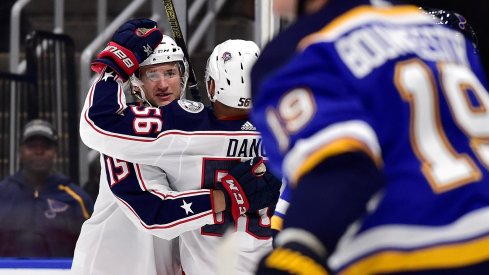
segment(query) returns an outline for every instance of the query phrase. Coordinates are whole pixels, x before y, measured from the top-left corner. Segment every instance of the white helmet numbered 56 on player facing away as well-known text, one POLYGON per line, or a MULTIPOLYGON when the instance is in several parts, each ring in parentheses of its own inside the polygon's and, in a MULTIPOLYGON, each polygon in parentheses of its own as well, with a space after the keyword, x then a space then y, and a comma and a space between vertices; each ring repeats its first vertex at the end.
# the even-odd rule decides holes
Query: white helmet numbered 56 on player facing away
POLYGON ((217 45, 207 60, 205 81, 209 100, 250 109, 250 71, 259 54, 260 49, 253 41, 236 39, 217 45), (215 82, 214 96, 209 91, 211 79, 215 82))

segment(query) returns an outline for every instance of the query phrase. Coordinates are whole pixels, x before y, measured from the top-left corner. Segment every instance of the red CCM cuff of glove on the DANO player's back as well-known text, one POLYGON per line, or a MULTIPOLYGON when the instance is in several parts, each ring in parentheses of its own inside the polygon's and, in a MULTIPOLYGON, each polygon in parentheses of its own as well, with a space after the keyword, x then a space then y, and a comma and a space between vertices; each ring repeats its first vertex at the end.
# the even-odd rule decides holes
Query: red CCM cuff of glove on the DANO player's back
POLYGON ((238 220, 239 216, 248 212, 250 208, 248 198, 246 198, 244 189, 233 176, 228 174, 222 177, 218 188, 226 193, 226 209, 231 210, 235 221, 238 220))

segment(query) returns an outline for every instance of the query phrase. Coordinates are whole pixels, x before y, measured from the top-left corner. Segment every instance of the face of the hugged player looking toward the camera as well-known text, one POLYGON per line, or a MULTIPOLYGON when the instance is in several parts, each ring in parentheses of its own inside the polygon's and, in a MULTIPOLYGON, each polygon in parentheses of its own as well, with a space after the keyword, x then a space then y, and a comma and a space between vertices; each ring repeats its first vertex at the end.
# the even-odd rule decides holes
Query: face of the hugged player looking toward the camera
POLYGON ((140 76, 151 105, 164 106, 180 98, 182 77, 176 62, 144 66, 140 76))

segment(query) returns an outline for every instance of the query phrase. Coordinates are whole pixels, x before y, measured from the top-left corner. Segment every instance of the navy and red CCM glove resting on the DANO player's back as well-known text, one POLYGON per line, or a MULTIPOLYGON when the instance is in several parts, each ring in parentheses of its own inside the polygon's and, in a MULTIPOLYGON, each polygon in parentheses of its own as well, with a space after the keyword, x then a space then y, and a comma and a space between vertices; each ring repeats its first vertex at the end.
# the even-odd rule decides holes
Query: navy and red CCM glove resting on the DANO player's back
POLYGON ((221 179, 226 209, 236 221, 247 212, 255 212, 277 203, 282 182, 267 171, 263 158, 255 157, 233 167, 221 179))

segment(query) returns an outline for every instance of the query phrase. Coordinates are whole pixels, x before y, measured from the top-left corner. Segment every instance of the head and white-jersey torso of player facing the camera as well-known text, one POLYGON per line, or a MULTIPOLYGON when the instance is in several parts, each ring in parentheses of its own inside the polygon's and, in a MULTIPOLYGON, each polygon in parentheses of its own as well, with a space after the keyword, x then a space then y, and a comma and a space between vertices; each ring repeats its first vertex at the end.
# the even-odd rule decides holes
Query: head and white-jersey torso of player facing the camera
MULTIPOLYGON (((164 35, 154 52, 132 75, 129 82, 132 93, 146 106, 167 105, 182 97, 188 79, 187 67, 182 49, 171 37, 164 35)), ((130 190, 130 186, 140 182, 169 188, 165 172, 159 167, 106 155, 101 155, 100 167, 95 211, 83 224, 75 248, 72 274, 182 274, 178 238, 165 240, 152 234, 134 213, 125 211, 124 195, 117 196, 122 192, 119 187, 130 190), (138 173, 129 173, 129 170, 138 173), (117 186, 114 186, 115 182, 117 186), (121 264, 127 261, 131 264, 121 264)))

